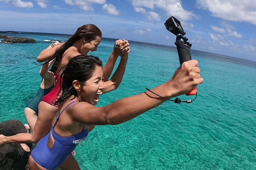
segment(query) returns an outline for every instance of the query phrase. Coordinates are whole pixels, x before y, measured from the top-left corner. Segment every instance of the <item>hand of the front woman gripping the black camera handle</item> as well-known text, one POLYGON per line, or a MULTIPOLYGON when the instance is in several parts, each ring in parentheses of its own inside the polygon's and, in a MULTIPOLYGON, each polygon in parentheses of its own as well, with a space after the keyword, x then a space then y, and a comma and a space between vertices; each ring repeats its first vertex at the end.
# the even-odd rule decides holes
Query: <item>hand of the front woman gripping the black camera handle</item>
POLYGON ((170 96, 174 97, 186 94, 192 88, 204 82, 199 72, 200 69, 197 60, 189 60, 181 64, 174 72, 173 77, 166 82, 170 89, 170 96))

